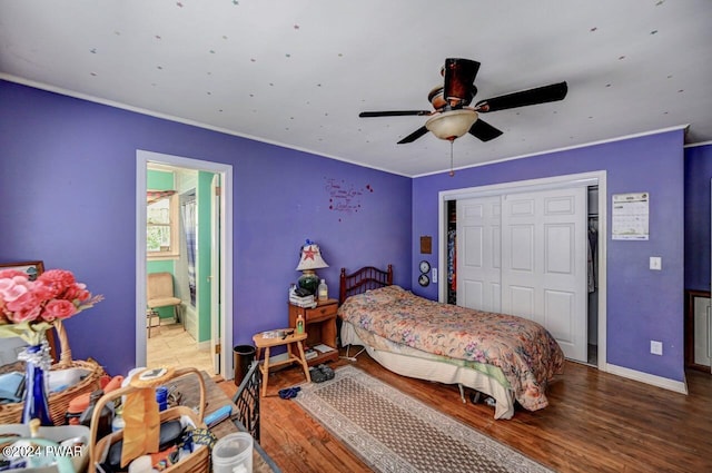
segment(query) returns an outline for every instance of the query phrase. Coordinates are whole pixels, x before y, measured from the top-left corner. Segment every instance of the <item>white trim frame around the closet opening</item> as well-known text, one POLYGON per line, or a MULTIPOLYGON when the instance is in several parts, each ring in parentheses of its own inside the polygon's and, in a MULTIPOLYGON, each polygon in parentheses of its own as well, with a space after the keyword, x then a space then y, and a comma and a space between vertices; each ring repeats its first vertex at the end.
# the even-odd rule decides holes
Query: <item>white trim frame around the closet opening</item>
MULTIPOLYGON (((511 183, 486 186, 467 187, 461 189, 442 190, 438 193, 438 267, 447 266, 447 201, 487 197, 502 194, 527 193, 536 190, 561 189, 567 187, 599 186, 599 357, 597 367, 607 372, 606 352, 606 236, 607 236, 607 191, 606 171, 597 170, 581 174, 552 176, 541 179, 516 180, 511 183)), ((438 300, 447 302, 446 280, 438 282, 438 300)))

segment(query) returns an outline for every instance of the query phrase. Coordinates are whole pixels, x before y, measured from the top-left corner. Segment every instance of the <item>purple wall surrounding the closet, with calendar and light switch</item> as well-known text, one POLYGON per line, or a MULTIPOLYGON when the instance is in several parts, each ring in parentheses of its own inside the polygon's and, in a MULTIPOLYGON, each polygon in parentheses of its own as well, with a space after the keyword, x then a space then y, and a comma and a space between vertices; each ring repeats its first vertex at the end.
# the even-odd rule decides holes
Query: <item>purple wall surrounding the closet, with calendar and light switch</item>
MULTIPOLYGON (((607 203, 613 194, 651 195, 650 240, 607 237, 607 362, 683 381, 682 130, 458 170, 454 177, 443 173, 414 179, 414 290, 437 298, 436 285, 417 286, 416 265, 421 235, 432 235, 437 248, 438 191, 593 170, 607 171, 607 203), (649 269, 650 256, 662 257, 662 272, 649 269), (663 356, 650 353, 651 339, 663 342, 663 356)), ((610 223, 609 215, 609 228, 610 223)))

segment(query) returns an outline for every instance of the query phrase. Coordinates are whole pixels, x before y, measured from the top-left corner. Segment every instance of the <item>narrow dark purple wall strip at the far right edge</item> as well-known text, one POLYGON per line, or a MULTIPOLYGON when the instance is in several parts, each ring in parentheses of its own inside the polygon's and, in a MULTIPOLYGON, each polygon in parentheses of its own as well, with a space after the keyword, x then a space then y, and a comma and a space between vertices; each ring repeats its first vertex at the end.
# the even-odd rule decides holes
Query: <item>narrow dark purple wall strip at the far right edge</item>
POLYGON ((710 290, 712 145, 685 148, 685 289, 710 290))

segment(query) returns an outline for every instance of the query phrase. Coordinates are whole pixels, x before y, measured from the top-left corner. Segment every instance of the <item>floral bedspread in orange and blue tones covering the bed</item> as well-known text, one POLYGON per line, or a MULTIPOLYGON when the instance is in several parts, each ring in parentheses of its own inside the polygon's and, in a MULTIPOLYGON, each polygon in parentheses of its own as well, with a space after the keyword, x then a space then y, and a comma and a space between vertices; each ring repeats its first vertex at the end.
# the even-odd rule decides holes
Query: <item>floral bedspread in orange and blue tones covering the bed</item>
POLYGON ((352 296, 339 316, 413 348, 498 366, 530 411, 548 405, 546 385, 563 373, 561 347, 536 322, 436 303, 399 286, 352 296))

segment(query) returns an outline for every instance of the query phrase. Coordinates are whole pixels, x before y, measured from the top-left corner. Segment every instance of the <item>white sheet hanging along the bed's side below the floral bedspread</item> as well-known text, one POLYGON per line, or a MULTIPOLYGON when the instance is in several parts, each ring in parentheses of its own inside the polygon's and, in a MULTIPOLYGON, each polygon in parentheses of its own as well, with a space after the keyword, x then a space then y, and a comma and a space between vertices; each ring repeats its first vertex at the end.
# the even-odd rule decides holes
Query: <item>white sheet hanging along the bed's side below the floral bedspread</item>
MULTIPOLYGON (((398 345, 382 338, 379 347, 365 343, 358 335, 359 328, 348 322, 342 324, 342 345, 358 345, 385 368, 402 376, 434 381, 444 384, 462 384, 492 396, 495 401, 494 418, 512 418, 514 415, 514 393, 496 378, 466 366, 457 366, 438 359, 435 355, 398 345), (387 349, 384 347, 387 346, 387 349)), ((377 337, 377 335, 372 335, 377 337)))

